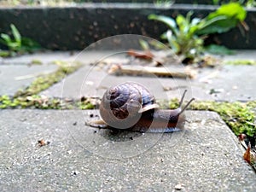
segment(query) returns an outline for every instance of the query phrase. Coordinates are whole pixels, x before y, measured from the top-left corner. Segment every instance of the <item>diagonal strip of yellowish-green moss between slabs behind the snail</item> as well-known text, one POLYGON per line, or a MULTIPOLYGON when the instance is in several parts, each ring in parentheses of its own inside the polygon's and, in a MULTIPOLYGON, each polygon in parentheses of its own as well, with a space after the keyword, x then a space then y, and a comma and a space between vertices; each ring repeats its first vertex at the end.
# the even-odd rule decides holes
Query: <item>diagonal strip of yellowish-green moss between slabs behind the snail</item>
POLYGON ((38 79, 35 79, 25 90, 17 91, 15 97, 36 95, 65 78, 67 74, 73 73, 81 67, 81 63, 79 62, 74 62, 73 65, 71 65, 69 62, 59 61, 57 65, 59 65, 59 67, 56 72, 38 77, 38 79))

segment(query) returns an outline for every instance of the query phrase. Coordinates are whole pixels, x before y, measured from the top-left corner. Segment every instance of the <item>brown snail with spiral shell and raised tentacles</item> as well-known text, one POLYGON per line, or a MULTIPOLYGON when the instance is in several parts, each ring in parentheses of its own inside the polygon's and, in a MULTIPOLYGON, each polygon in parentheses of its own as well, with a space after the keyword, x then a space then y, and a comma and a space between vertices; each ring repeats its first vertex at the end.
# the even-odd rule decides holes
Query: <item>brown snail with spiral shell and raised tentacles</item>
POLYGON ((160 109, 143 84, 125 82, 109 88, 100 104, 101 120, 87 123, 96 128, 110 128, 139 132, 172 132, 183 129, 184 111, 195 100, 182 108, 184 90, 179 107, 160 109))

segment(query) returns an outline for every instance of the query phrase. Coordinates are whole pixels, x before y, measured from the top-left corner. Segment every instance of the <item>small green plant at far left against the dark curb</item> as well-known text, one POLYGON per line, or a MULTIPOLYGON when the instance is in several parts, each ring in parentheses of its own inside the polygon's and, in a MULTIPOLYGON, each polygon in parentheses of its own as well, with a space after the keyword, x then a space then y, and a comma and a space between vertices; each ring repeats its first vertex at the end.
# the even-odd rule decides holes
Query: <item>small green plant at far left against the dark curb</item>
POLYGON ((10 51, 30 52, 39 49, 40 45, 31 38, 21 37, 20 32, 14 24, 10 25, 12 37, 9 34, 1 33, 0 43, 6 45, 10 51))

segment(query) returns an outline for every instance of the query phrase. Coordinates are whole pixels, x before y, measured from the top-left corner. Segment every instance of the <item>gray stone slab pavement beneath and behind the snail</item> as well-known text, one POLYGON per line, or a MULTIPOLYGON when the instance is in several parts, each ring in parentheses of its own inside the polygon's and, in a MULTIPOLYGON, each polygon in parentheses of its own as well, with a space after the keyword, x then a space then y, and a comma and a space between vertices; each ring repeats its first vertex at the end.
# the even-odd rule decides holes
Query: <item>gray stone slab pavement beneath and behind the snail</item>
MULTIPOLYGON (((157 100, 248 101, 256 99, 255 66, 201 69, 197 79, 112 76, 90 63, 111 52, 70 55, 49 52, 3 59, 0 95, 13 95, 40 73, 56 70, 52 61, 82 61, 84 67, 41 92, 45 96, 102 96, 126 80, 145 84, 157 100), (41 66, 27 66, 32 60, 41 66), (165 91, 163 87, 181 87, 165 91), (211 90, 216 93, 210 95, 211 90)), ((108 56, 109 57, 109 56, 108 56)), ((224 60, 256 60, 255 50, 224 60)), ((253 169, 244 150, 217 113, 187 111, 184 131, 172 134, 113 134, 84 125, 97 119, 90 110, 0 110, 0 191, 255 191, 253 169), (48 145, 39 147, 38 140, 48 145)))

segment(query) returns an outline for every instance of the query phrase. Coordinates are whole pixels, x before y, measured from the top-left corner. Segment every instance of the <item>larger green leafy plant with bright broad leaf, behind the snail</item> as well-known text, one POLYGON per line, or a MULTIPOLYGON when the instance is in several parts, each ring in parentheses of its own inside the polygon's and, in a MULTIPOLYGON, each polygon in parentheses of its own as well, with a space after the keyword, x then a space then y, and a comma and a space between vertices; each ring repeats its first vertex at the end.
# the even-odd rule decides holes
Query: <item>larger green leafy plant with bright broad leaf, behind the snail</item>
POLYGON ((170 47, 185 59, 194 60, 203 51, 204 39, 208 34, 228 32, 247 15, 239 3, 228 3, 219 7, 206 18, 192 18, 193 12, 186 16, 177 15, 176 20, 165 15, 149 15, 149 20, 158 20, 168 26, 160 36, 170 47))

